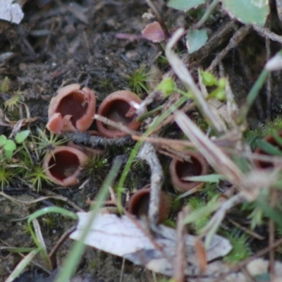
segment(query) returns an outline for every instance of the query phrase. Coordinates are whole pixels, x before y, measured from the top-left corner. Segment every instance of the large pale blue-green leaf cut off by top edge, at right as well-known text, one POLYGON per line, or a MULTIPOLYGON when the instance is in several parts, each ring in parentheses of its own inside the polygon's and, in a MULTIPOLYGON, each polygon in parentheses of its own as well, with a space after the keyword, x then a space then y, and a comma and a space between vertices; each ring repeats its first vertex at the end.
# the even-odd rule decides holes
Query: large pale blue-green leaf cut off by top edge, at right
POLYGON ((264 25, 269 15, 269 0, 223 0, 223 9, 241 23, 264 25))

